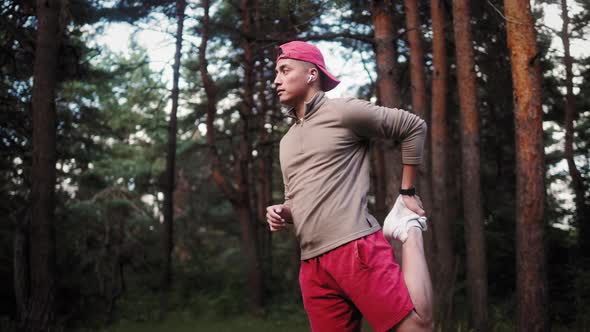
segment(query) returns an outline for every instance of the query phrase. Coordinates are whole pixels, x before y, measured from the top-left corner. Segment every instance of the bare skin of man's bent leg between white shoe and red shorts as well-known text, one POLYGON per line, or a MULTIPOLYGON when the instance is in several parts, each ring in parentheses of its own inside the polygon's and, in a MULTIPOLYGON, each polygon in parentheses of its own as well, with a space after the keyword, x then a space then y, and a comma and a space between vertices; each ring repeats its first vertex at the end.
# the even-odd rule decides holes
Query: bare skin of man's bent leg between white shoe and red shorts
POLYGON ((422 230, 411 227, 403 244, 402 271, 414 311, 393 329, 404 331, 433 331, 432 282, 426 265, 422 230))

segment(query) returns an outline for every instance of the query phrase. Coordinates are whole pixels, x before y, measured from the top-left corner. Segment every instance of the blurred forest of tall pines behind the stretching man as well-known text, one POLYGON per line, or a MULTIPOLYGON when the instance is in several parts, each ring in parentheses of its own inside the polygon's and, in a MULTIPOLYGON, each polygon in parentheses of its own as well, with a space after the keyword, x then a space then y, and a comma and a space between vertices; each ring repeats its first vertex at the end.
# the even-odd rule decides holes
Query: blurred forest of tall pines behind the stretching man
MULTIPOLYGON (((304 317, 297 243, 264 222, 283 199, 290 125, 274 61, 293 39, 319 43, 332 71, 367 77, 332 97, 428 122, 419 188, 443 330, 588 329, 590 58, 571 49, 590 33, 590 7, 513 4, 3 2, 0 329, 304 317), (561 29, 543 23, 547 10, 561 29), (135 34, 125 52, 97 43, 120 22, 178 41, 175 70, 156 70, 135 34), (528 45, 514 38, 525 27, 528 45), (534 87, 517 86, 522 70, 534 87)), ((374 147, 370 208, 383 216, 399 156, 396 142, 374 147)))

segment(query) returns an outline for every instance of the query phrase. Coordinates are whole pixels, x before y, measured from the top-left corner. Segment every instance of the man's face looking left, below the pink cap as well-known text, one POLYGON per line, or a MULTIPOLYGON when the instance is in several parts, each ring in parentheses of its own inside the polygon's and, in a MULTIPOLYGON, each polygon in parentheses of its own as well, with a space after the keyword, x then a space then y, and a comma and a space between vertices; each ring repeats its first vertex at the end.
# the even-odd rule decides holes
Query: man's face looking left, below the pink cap
POLYGON ((280 59, 277 62, 274 84, 281 104, 294 106, 305 98, 310 88, 307 80, 312 67, 304 61, 293 59, 280 59))

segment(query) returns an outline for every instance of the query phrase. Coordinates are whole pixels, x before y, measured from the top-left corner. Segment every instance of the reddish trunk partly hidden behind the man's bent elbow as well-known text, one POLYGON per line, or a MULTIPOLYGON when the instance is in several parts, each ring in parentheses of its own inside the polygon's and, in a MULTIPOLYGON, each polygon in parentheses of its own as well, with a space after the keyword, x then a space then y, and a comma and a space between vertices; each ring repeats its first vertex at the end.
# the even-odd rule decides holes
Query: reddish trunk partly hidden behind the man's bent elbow
MULTIPOLYGON (((406 29, 408 31, 408 43, 410 46, 410 81, 412 88, 412 111, 430 124, 430 112, 426 103, 426 74, 424 72, 424 47, 422 41, 422 29, 418 12, 418 0, 405 0, 406 29)), ((430 132, 428 133, 430 135, 430 132)), ((427 216, 432 214, 432 178, 430 177, 430 143, 424 144, 424 158, 420 164, 418 173, 418 192, 427 216)), ((432 232, 425 234, 425 249, 428 267, 433 268, 434 243, 432 232)), ((435 271, 430 271, 433 275, 435 271)))

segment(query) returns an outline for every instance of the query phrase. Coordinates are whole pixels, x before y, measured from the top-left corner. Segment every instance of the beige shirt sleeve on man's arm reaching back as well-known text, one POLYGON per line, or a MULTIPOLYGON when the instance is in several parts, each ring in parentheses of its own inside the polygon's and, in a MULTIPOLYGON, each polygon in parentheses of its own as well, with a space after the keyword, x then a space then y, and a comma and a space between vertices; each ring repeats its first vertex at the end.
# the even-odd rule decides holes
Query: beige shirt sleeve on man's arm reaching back
POLYGON ((350 99, 343 107, 342 122, 360 138, 401 140, 402 162, 406 165, 421 163, 427 125, 419 116, 361 99, 350 99))

